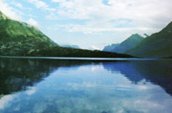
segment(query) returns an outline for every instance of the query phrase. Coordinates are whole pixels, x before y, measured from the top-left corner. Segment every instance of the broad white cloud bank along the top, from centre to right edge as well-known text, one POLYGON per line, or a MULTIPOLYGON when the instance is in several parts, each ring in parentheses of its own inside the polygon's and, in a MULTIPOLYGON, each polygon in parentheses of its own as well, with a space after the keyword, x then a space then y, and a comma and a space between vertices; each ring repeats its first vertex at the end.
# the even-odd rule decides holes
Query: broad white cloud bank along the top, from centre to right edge
MULTIPOLYGON (((169 15, 171 0, 109 0, 105 5, 102 0, 53 0, 60 4, 59 13, 70 18, 148 18, 169 15), (159 9, 160 7, 166 7, 159 9), (165 12, 166 11, 166 12, 165 12)), ((102 19, 97 18, 97 19, 102 19)))

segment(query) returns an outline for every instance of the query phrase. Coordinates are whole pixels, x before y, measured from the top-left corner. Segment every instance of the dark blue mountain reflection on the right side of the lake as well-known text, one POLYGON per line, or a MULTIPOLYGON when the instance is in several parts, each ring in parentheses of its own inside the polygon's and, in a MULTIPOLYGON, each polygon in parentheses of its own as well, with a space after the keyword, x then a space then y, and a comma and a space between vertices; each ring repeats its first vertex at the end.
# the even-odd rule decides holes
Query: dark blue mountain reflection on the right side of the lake
POLYGON ((133 83, 150 81, 172 95, 172 60, 103 63, 103 66, 114 73, 119 71, 133 83))

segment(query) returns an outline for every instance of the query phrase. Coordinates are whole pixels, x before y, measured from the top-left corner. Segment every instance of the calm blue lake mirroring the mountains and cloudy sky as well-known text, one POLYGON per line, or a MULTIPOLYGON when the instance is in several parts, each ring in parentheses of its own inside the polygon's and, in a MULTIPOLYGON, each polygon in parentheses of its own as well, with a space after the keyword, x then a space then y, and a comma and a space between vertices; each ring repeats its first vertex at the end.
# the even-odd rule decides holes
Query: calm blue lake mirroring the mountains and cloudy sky
POLYGON ((0 58, 0 113, 171 113, 172 60, 0 58))

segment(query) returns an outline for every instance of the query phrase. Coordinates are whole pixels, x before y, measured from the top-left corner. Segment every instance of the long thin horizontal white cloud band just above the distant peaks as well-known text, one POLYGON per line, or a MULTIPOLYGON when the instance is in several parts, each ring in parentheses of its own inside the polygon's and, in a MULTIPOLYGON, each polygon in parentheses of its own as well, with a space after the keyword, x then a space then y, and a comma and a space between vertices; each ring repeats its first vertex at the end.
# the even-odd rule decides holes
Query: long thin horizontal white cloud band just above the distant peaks
POLYGON ((68 25, 56 25, 57 30, 63 29, 68 32, 82 32, 84 34, 100 34, 105 32, 120 32, 120 33, 127 33, 131 35, 133 33, 152 33, 153 31, 158 31, 158 28, 149 28, 149 27, 113 27, 111 25, 94 25, 91 23, 87 23, 85 25, 79 24, 68 24, 68 25))

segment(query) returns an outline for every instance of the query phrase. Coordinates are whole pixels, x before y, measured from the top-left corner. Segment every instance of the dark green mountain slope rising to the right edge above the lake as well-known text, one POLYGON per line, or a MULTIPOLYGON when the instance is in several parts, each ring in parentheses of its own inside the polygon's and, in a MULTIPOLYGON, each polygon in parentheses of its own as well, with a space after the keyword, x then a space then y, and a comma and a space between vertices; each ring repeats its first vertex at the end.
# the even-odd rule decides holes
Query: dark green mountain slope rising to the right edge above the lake
POLYGON ((145 38, 128 54, 139 57, 170 57, 172 56, 172 22, 158 33, 145 38))

